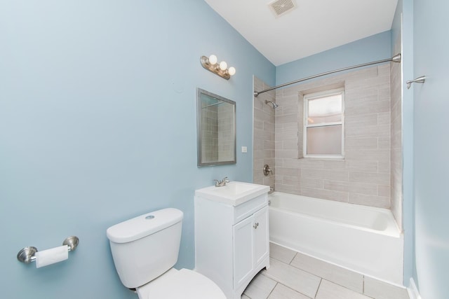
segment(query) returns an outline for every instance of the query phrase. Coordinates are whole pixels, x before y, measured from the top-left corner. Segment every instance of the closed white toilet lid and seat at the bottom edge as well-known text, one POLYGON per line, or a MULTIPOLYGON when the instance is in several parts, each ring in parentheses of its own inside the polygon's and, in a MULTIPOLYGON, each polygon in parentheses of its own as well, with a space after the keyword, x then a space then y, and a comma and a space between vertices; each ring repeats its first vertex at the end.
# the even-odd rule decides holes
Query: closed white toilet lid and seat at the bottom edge
POLYGON ((140 299, 226 299, 222 290, 202 274, 170 269, 137 289, 140 299))

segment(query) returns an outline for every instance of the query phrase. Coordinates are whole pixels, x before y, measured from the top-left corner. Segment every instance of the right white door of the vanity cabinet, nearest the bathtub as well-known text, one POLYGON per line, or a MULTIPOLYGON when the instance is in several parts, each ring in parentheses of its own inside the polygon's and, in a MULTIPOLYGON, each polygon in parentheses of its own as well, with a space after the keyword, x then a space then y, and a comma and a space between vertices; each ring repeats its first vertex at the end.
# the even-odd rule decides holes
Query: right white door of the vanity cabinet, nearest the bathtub
POLYGON ((255 265, 259 265, 269 255, 268 207, 255 212, 253 230, 254 260, 255 265))

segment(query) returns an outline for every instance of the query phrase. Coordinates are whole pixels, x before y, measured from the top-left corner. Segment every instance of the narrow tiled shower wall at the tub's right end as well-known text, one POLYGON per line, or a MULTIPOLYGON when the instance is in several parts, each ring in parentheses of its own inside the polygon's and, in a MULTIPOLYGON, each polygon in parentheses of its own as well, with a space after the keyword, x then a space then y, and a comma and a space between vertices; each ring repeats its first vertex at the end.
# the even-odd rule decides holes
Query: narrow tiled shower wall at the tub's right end
MULTIPOLYGON (((401 53, 401 36, 394 53, 401 53)), ((402 76, 401 64, 391 63, 391 212, 402 230, 402 76)))

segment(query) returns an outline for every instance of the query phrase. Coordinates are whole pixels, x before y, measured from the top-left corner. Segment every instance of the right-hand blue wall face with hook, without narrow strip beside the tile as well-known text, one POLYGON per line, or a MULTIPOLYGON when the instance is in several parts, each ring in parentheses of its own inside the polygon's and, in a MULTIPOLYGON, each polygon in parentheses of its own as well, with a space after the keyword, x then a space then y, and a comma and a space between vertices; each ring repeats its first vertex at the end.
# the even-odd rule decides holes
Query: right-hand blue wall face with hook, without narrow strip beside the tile
POLYGON ((414 279, 423 299, 449 294, 448 11, 448 1, 413 1, 413 78, 427 76, 410 90, 415 105, 414 279))

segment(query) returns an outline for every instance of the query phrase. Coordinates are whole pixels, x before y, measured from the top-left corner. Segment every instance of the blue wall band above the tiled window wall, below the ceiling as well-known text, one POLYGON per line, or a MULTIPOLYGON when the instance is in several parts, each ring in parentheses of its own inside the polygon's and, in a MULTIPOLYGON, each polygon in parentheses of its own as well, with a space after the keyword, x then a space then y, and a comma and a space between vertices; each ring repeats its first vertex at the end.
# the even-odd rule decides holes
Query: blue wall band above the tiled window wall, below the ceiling
POLYGON ((276 85, 390 57, 391 32, 382 32, 276 67, 276 85))

